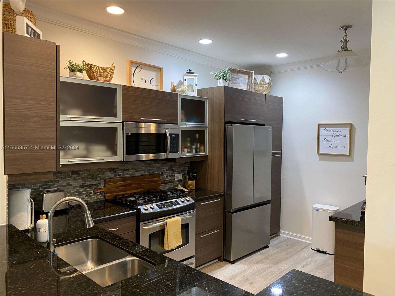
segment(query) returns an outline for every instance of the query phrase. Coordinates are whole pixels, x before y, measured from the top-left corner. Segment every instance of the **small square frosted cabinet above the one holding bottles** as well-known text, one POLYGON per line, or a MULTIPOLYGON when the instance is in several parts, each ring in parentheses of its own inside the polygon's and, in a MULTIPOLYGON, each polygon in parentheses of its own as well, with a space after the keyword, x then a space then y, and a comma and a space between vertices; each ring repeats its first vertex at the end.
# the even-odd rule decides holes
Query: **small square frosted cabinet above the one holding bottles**
POLYGON ((179 125, 207 126, 207 97, 179 95, 179 125))

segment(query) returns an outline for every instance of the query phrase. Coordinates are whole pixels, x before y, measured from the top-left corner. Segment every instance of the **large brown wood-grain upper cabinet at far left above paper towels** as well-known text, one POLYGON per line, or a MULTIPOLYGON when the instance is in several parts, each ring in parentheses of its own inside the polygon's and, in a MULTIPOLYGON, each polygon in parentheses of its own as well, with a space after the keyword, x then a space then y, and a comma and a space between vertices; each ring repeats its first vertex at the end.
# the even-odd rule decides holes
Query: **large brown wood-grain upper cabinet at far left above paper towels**
POLYGON ((56 44, 6 32, 3 42, 5 174, 56 171, 56 44))

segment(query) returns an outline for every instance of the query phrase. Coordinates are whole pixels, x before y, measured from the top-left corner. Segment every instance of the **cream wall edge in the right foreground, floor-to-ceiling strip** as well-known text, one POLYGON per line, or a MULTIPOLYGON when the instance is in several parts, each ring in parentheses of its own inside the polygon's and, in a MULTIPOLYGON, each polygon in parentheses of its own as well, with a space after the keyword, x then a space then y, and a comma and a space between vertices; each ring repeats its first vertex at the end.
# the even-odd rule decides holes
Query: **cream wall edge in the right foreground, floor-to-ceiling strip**
POLYGON ((395 2, 373 1, 363 291, 395 295, 395 2))

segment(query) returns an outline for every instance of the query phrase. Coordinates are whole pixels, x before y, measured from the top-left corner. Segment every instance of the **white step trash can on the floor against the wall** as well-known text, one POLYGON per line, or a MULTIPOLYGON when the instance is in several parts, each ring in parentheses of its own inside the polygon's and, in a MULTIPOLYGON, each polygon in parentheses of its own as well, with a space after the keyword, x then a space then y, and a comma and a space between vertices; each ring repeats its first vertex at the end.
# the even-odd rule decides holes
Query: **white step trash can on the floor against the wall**
POLYGON ((337 206, 314 204, 311 220, 311 249, 330 255, 335 254, 335 222, 329 216, 339 212, 337 206))

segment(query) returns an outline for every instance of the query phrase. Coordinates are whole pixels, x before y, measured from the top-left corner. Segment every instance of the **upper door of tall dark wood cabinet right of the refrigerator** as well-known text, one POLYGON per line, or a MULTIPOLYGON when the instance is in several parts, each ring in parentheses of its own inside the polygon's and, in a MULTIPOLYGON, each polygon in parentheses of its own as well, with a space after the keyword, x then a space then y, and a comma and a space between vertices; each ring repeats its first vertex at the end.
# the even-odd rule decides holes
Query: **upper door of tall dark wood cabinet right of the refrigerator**
POLYGON ((272 151, 282 150, 282 109, 283 98, 266 95, 265 102, 265 126, 273 127, 272 151))

